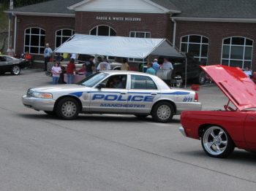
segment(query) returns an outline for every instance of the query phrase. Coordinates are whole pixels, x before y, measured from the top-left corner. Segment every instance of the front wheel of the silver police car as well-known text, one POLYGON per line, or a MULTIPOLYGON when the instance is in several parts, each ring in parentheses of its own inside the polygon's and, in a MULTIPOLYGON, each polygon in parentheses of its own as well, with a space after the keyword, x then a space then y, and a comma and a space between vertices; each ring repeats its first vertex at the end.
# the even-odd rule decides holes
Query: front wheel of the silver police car
POLYGON ((56 114, 62 120, 75 120, 80 112, 80 105, 74 98, 63 98, 56 105, 56 114))

